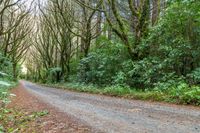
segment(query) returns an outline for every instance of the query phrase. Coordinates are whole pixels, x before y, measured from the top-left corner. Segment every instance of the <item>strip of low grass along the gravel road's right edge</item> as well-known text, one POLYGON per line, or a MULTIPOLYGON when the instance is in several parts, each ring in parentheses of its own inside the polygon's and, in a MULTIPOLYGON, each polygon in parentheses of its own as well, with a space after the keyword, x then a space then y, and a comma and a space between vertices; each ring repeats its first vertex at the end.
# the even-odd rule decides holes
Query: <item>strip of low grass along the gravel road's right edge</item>
POLYGON ((169 88, 165 91, 141 91, 119 85, 101 88, 94 85, 85 85, 80 83, 46 84, 46 86, 67 89, 76 92, 115 96, 135 100, 163 101, 168 103, 191 104, 196 106, 200 105, 200 88, 189 87, 188 85, 184 84, 169 88))

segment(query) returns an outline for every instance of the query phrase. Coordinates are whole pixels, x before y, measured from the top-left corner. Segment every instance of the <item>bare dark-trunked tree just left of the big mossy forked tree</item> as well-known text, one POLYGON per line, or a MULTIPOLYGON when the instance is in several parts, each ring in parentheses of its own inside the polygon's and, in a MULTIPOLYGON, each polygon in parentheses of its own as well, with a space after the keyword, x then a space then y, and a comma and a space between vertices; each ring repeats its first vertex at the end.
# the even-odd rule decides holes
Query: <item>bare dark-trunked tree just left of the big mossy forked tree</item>
POLYGON ((101 1, 75 0, 72 4, 75 7, 74 13, 69 14, 69 16, 76 26, 74 29, 71 29, 69 25, 67 27, 76 37, 81 39, 80 58, 87 57, 92 41, 101 34, 101 14, 97 12, 97 9, 101 7, 101 1), (87 7, 92 7, 96 10, 91 10, 87 7))

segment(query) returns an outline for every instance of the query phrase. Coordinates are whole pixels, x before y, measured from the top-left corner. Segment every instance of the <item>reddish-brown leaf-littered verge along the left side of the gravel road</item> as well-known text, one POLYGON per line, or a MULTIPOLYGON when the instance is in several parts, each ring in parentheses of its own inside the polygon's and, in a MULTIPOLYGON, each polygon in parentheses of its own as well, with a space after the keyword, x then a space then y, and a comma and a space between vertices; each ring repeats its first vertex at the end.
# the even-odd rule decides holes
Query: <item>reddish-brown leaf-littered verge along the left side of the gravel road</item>
MULTIPOLYGON (((71 116, 63 113, 54 106, 43 102, 37 96, 31 94, 26 88, 20 84, 17 88, 12 90, 12 93, 16 97, 12 98, 11 104, 8 108, 14 109, 15 112, 18 111, 17 115, 20 113, 20 117, 24 117, 25 120, 31 114, 41 113, 43 111, 48 111, 48 114, 44 116, 37 117, 36 119, 29 120, 24 123, 21 120, 16 120, 16 122, 21 122, 26 125, 20 125, 18 127, 19 133, 89 133, 92 132, 89 126, 85 126, 84 123, 73 119, 71 116), (23 113, 23 114, 22 114, 23 113), (21 129, 19 129, 21 128, 21 129)), ((51 99, 53 100, 53 99, 51 99)), ((16 115, 16 113, 15 113, 16 115)), ((40 115, 40 114, 39 114, 40 115)), ((18 116, 17 116, 18 117, 18 116)), ((19 118, 17 118, 19 119, 19 118)))

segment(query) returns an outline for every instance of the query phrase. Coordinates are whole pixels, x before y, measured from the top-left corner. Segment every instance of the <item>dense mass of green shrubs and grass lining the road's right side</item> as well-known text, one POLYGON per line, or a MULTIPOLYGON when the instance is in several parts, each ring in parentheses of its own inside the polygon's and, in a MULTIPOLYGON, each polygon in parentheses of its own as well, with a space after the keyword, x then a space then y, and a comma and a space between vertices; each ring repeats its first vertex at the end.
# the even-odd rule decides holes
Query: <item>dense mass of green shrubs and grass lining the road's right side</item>
MULTIPOLYGON (((128 35, 132 28, 127 25, 124 25, 127 35, 113 34, 111 40, 106 36, 99 37, 96 43, 91 43, 87 57, 81 60, 72 57, 68 81, 78 83, 63 82, 56 86, 111 96, 199 105, 199 7, 197 0, 168 0, 154 26, 141 20, 145 31, 138 32, 139 38, 135 34, 128 35), (127 51, 119 38, 124 43, 128 38, 130 45, 126 46, 130 46, 131 51, 127 51)), ((147 10, 143 13, 140 15, 148 14, 147 10)), ((116 23, 114 26, 118 27, 116 23)), ((107 32, 108 27, 104 30, 107 32)), ((50 68, 41 77, 48 77, 47 81, 51 83, 62 81, 59 77, 64 75, 60 73, 61 68, 50 68)))

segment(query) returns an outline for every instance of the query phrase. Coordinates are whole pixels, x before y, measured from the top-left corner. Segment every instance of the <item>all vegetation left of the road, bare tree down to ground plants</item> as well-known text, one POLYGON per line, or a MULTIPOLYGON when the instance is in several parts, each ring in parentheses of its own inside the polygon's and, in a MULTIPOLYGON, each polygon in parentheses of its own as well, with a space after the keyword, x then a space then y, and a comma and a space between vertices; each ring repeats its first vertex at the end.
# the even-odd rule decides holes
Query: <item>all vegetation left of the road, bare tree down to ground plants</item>
POLYGON ((48 111, 26 112, 8 107, 17 97, 11 90, 18 86, 21 65, 30 43, 30 11, 20 0, 0 0, 0 133, 26 132, 36 118, 48 111))

